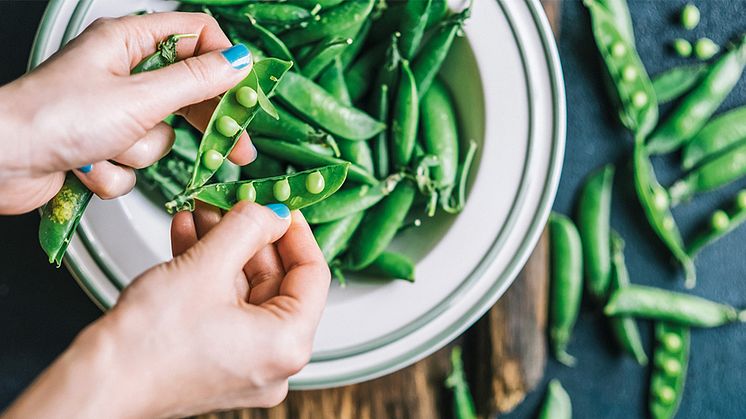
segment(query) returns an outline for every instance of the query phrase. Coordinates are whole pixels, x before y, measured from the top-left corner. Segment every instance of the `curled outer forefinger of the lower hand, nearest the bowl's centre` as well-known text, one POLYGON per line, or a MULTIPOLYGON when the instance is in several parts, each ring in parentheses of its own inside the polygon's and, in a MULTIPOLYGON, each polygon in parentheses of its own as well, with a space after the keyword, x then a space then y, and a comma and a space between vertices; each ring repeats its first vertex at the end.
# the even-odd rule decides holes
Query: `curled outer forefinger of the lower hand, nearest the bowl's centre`
POLYGON ((285 268, 280 293, 268 301, 303 323, 308 331, 318 325, 326 304, 331 275, 313 232, 300 211, 293 212, 293 222, 277 242, 277 250, 285 268), (290 299, 283 301, 284 299, 290 299))

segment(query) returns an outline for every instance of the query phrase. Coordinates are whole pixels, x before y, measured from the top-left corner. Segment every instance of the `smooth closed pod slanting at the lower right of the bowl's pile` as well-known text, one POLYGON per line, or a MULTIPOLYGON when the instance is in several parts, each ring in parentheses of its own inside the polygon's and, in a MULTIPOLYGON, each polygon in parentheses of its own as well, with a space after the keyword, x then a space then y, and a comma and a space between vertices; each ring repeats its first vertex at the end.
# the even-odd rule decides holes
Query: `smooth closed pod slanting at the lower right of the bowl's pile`
POLYGON ((366 268, 383 253, 404 222, 416 191, 412 182, 399 182, 389 196, 367 211, 350 241, 345 266, 353 270, 366 268))

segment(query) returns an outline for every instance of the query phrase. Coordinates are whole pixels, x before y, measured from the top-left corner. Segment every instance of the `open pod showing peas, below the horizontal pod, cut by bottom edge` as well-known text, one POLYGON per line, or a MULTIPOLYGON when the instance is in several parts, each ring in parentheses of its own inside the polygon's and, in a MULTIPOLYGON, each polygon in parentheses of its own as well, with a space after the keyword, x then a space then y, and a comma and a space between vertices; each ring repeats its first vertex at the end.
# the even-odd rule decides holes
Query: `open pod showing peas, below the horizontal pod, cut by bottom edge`
POLYGON ((688 327, 655 324, 655 365, 650 374, 650 417, 673 419, 681 404, 689 365, 688 327))

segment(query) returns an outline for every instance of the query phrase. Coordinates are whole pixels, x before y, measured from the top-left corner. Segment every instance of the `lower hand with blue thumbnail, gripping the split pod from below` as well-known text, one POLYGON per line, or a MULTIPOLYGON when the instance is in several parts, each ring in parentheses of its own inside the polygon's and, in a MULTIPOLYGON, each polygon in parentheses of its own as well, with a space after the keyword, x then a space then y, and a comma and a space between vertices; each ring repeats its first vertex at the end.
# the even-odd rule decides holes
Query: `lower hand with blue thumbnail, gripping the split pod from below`
POLYGON ((187 416, 282 401, 309 360, 330 274, 301 213, 275 209, 179 213, 174 260, 137 278, 8 417, 187 416))

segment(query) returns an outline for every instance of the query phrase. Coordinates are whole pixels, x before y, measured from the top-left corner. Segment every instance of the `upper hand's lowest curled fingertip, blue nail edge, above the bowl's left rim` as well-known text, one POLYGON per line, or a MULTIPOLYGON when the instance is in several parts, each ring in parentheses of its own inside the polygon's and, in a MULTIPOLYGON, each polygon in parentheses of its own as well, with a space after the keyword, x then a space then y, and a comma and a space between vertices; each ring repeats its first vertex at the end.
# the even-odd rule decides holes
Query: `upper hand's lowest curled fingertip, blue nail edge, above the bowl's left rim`
POLYGON ((135 171, 109 161, 73 170, 83 184, 101 199, 114 199, 135 187, 135 171))

